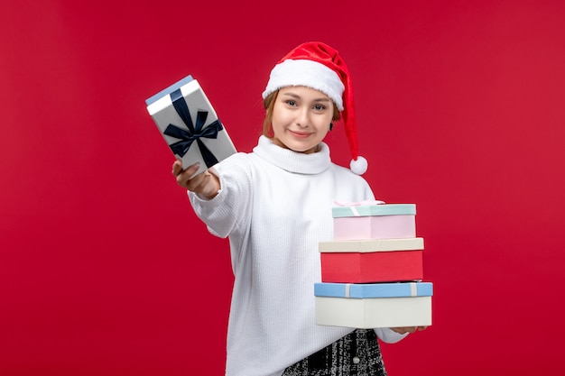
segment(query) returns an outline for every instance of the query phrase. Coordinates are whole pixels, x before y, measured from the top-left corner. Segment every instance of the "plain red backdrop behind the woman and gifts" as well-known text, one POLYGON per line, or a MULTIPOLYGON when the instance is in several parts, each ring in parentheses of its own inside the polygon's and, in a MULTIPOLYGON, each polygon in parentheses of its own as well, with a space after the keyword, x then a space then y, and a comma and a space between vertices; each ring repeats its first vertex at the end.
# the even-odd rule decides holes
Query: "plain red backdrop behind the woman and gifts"
POLYGON ((191 74, 250 151, 270 69, 307 40, 349 65, 377 198, 417 204, 434 322, 384 344, 391 376, 565 367, 564 2, 2 8, 0 374, 223 374, 228 244, 144 100, 191 74))

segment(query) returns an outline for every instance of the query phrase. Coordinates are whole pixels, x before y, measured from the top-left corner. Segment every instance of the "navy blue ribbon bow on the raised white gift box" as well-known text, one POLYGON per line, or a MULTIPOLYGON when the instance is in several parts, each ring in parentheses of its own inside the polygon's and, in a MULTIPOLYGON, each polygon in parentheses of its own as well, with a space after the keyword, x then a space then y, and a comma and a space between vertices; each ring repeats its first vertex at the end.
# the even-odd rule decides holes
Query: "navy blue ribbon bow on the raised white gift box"
MULTIPOLYGON (((196 124, 192 124, 192 117, 190 116, 189 105, 187 105, 184 97, 182 96, 181 89, 177 89, 171 93, 171 100, 174 109, 177 114, 181 116, 182 122, 189 128, 189 131, 182 129, 176 125, 169 124, 165 129, 165 134, 181 141, 174 142, 169 145, 171 151, 181 157, 186 154, 192 142, 196 141, 199 145, 200 154, 202 154, 202 159, 206 163, 207 167, 212 167, 218 163, 218 159, 212 151, 206 147, 204 142, 200 140, 201 137, 216 139, 218 137, 218 132, 224 129, 219 119, 209 124, 206 128, 202 129, 204 124, 206 124, 206 119, 208 118, 208 111, 199 111, 196 115, 196 124)), ((184 166, 188 167, 188 166, 184 166)))

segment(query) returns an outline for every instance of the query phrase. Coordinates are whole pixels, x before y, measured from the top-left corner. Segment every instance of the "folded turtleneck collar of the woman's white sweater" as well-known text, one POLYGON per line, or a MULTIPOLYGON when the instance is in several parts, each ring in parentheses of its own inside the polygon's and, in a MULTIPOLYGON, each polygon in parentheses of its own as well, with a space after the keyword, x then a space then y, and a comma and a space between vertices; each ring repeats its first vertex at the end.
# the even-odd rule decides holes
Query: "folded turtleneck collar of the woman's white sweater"
POLYGON ((319 151, 304 154, 275 145, 271 139, 262 135, 253 151, 258 157, 276 167, 297 174, 319 174, 331 164, 329 147, 325 142, 320 142, 319 151))

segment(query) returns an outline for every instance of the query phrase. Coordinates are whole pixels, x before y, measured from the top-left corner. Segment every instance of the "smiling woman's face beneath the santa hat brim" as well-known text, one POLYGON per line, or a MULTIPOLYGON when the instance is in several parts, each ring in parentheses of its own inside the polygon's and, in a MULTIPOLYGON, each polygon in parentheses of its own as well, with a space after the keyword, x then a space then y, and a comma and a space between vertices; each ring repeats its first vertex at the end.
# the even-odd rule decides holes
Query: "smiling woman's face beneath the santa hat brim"
POLYGON ((283 87, 273 106, 273 143, 310 153, 329 132, 333 102, 310 87, 283 87))

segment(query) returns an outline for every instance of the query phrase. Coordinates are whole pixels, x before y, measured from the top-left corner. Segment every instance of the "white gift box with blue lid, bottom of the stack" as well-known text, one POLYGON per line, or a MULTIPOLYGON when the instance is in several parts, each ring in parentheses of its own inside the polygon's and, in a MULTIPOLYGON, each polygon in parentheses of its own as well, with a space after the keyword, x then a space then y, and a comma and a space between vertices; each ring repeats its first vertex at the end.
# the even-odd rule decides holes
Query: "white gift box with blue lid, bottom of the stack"
POLYGON ((318 325, 431 326, 431 282, 316 283, 314 295, 318 325))

